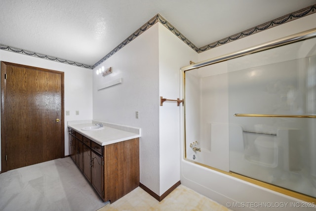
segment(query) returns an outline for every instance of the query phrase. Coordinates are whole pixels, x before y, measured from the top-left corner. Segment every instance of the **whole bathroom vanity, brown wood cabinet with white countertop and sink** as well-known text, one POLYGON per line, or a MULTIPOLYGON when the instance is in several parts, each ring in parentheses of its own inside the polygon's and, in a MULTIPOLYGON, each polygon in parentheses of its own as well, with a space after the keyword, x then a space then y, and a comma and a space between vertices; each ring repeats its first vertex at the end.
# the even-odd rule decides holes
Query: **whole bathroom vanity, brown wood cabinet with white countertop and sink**
POLYGON ((96 123, 68 122, 69 154, 102 200, 113 203, 139 186, 140 129, 96 123))

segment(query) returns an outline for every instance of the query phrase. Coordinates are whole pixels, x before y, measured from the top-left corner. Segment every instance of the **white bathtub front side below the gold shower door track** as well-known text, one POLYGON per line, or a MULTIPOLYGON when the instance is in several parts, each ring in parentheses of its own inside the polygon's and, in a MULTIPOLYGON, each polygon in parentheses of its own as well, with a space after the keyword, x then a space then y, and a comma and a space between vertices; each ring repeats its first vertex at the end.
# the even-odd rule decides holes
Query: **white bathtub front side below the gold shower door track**
POLYGON ((181 161, 181 183, 234 211, 316 210, 311 203, 200 166, 185 158, 181 161))

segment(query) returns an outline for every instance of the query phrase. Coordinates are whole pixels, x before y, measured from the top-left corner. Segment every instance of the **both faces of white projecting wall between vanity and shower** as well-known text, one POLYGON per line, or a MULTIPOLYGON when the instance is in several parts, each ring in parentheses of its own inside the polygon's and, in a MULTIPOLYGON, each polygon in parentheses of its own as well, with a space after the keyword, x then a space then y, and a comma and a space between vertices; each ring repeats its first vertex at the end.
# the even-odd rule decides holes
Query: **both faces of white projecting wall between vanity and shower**
POLYGON ((180 110, 175 103, 159 106, 159 96, 180 98, 180 67, 194 56, 194 50, 157 23, 93 73, 93 119, 141 128, 140 182, 158 196, 180 180, 180 110), (102 66, 112 67, 113 73, 96 75, 102 66), (97 90, 119 78, 121 84, 97 90))

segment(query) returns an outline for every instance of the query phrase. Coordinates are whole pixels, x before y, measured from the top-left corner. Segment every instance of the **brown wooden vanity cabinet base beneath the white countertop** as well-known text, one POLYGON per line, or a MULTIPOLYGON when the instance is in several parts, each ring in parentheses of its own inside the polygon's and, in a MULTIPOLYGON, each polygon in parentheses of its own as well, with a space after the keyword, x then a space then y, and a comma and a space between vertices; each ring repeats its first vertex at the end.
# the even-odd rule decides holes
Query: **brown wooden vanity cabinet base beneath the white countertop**
POLYGON ((103 201, 139 186, 139 138, 101 146, 75 130, 69 137, 71 157, 103 201))

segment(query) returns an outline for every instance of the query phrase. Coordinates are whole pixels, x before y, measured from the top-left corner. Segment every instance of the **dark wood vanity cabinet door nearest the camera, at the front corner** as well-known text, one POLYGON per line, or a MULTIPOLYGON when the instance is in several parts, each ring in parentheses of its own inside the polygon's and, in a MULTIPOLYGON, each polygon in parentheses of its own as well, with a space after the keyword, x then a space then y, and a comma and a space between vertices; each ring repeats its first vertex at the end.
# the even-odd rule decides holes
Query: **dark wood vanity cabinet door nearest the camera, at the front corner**
POLYGON ((101 196, 104 198, 104 186, 103 186, 103 157, 91 151, 91 184, 101 196))

